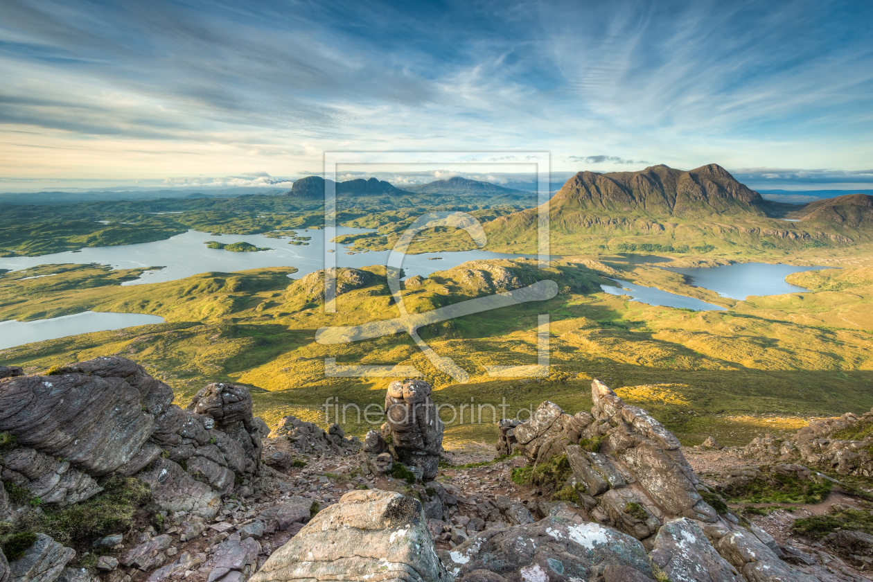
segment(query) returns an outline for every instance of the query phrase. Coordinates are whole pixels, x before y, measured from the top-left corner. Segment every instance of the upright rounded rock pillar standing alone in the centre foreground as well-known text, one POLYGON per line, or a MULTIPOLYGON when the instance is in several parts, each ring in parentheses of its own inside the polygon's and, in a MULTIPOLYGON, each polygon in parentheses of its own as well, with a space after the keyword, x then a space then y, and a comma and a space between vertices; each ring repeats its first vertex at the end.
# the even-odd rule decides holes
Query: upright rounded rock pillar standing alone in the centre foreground
POLYGON ((410 469, 419 469, 424 481, 436 477, 443 452, 443 421, 430 391, 423 380, 396 380, 385 395, 386 425, 397 458, 410 469))

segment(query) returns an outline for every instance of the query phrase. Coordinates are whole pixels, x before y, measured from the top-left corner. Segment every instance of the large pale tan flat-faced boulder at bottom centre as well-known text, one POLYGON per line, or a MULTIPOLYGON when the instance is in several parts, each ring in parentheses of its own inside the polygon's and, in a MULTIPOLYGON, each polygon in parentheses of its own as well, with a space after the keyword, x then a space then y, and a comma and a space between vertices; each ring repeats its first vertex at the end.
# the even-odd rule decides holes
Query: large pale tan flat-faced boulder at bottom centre
POLYGON ((252 582, 449 582, 416 499, 351 491, 272 553, 252 582))

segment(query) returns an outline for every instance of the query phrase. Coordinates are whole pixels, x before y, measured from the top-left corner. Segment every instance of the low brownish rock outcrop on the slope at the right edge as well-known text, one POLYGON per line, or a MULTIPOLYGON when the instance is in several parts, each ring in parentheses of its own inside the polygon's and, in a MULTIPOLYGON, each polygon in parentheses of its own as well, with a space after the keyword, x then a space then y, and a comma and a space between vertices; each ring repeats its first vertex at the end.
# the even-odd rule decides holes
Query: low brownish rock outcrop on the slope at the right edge
POLYGON ((759 464, 803 462, 841 475, 873 476, 873 410, 810 421, 795 435, 756 437, 739 454, 759 464))

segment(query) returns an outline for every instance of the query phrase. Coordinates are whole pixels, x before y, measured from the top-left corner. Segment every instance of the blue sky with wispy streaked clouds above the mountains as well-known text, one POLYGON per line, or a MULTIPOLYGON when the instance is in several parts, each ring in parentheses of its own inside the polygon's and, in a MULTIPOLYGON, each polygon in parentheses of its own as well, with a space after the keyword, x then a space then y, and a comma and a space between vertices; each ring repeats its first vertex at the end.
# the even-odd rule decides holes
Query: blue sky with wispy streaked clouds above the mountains
POLYGON ((6 191, 285 183, 326 150, 873 182, 869 0, 5 0, 0 14, 6 191))

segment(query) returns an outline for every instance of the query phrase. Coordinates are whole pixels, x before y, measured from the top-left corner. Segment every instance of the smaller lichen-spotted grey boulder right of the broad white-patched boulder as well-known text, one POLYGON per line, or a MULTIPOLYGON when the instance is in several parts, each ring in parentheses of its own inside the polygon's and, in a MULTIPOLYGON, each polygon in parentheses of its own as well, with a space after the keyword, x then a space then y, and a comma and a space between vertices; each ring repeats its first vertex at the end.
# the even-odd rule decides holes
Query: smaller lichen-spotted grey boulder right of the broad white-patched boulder
POLYGON ((675 582, 744 582, 737 569, 718 555, 704 532, 680 517, 663 524, 651 551, 652 563, 675 582))

